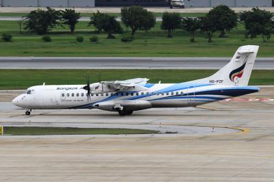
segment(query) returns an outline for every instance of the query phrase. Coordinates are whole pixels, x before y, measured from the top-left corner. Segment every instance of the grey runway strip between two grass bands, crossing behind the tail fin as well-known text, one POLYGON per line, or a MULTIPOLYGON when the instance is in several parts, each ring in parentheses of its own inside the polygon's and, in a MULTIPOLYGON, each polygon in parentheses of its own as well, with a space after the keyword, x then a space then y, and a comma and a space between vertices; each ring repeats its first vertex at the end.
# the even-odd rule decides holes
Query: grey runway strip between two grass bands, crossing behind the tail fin
MULTIPOLYGON (((219 69, 231 57, 0 57, 0 69, 219 69)), ((274 57, 257 58, 254 69, 274 69, 274 57)))

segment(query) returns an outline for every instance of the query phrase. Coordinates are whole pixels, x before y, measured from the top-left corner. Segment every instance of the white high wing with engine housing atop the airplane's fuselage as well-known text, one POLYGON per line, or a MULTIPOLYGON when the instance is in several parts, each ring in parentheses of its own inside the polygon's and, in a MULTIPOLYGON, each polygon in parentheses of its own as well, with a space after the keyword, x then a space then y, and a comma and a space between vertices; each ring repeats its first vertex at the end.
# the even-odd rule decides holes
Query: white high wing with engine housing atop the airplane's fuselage
POLYGON ((136 79, 127 79, 123 81, 101 81, 103 85, 108 86, 108 88, 114 88, 117 90, 129 90, 130 88, 137 88, 138 90, 147 90, 147 88, 140 86, 147 83, 149 79, 146 78, 136 78, 136 79))

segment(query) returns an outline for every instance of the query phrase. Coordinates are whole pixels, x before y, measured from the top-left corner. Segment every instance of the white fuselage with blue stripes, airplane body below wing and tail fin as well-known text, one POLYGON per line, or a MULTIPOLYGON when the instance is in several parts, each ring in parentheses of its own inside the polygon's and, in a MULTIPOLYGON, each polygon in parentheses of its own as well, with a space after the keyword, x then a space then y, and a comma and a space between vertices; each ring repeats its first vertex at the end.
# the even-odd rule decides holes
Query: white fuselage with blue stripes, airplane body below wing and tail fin
POLYGON ((147 90, 93 93, 88 99, 84 85, 33 86, 12 103, 25 109, 103 109, 116 111, 151 107, 190 107, 252 92, 251 86, 222 86, 201 83, 148 83, 147 90))

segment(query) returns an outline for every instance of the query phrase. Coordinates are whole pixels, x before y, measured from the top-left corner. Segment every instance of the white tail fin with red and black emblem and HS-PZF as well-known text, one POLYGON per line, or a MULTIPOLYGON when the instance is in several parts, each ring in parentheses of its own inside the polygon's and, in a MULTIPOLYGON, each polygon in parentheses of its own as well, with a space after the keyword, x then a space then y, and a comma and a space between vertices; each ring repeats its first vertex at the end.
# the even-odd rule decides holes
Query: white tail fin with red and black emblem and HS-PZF
POLYGON ((256 45, 239 47, 232 60, 214 75, 198 79, 195 83, 212 83, 226 86, 247 86, 258 53, 256 45))

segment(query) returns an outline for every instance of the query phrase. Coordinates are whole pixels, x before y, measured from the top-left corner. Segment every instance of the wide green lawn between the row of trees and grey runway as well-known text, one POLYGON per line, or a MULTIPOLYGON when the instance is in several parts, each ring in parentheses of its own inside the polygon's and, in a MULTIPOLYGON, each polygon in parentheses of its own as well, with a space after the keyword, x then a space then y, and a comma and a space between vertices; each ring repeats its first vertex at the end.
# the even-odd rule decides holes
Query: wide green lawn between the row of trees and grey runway
MULTIPOLYGON (((213 42, 208 43, 206 34, 197 33, 196 42, 189 42, 189 34, 183 30, 173 32, 173 38, 166 38, 166 31, 160 29, 160 23, 149 32, 137 31, 133 42, 121 42, 121 34, 116 39, 107 39, 107 35, 96 34, 88 22, 79 22, 75 34, 69 28, 56 27, 50 32, 52 42, 42 42, 36 34, 18 34, 16 21, 0 21, 0 34, 10 32, 12 42, 1 42, 0 56, 155 56, 155 57, 232 57, 236 49, 245 44, 260 45, 258 57, 274 56, 274 38, 262 43, 262 37, 245 38, 245 29, 239 25, 227 38, 219 38, 216 32, 213 42), (84 36, 84 42, 75 41, 77 35, 84 36), (88 38, 99 36, 99 43, 91 43, 88 38)), ((129 31, 129 29, 125 29, 129 31)))

